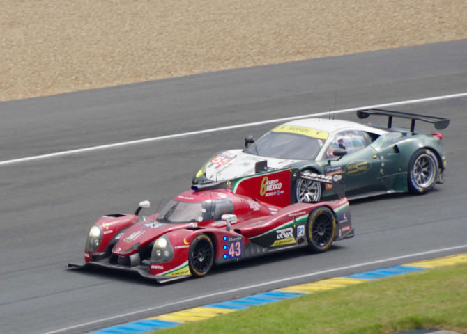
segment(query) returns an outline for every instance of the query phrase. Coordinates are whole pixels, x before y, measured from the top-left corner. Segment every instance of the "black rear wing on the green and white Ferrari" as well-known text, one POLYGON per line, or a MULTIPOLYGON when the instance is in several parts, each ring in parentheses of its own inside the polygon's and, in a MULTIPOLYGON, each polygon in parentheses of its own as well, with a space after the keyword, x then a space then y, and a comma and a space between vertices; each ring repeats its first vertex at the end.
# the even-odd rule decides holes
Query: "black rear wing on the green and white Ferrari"
POLYGON ((435 129, 442 130, 447 128, 449 120, 443 117, 418 115, 416 113, 403 113, 401 111, 391 111, 385 109, 364 109, 357 111, 358 118, 367 118, 370 115, 382 115, 388 116, 388 129, 392 128, 392 118, 408 118, 411 120, 411 132, 415 131, 415 120, 421 120, 422 122, 428 122, 434 124, 435 129))

